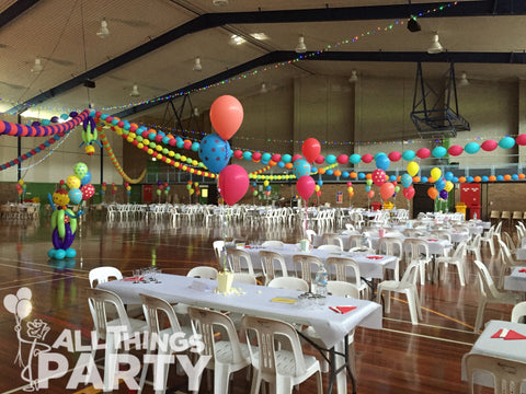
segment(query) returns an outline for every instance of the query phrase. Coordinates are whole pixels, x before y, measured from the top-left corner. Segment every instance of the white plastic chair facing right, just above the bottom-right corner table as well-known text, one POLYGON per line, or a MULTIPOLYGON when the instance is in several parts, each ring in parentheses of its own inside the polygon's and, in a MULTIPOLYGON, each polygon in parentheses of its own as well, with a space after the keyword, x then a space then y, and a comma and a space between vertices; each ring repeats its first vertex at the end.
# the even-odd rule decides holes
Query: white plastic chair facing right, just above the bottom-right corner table
POLYGON ((518 303, 519 296, 496 290, 495 283, 491 278, 490 271, 482 262, 474 260, 477 276, 480 286, 479 305, 477 308, 477 318, 474 321, 474 332, 478 333, 484 320, 484 309, 488 303, 499 303, 515 305, 518 303))

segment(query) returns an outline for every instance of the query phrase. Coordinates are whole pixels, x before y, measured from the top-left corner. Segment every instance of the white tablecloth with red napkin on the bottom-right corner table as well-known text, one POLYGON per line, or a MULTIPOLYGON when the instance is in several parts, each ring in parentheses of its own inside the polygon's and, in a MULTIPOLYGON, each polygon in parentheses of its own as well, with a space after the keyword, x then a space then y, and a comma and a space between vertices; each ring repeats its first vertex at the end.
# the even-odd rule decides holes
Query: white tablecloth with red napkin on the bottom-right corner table
MULTIPOLYGON (((479 339, 477 339, 474 343, 470 354, 487 355, 526 362, 526 339, 505 340, 502 338, 492 338, 491 336, 501 328, 510 328, 519 334, 526 335, 526 324, 504 321, 490 321, 479 339)), ((464 358, 462 380, 467 380, 466 362, 464 358)), ((474 382, 488 387, 493 387, 493 379, 489 373, 485 372, 476 372, 474 382)), ((522 385, 522 393, 526 393, 526 383, 523 383, 522 385)))

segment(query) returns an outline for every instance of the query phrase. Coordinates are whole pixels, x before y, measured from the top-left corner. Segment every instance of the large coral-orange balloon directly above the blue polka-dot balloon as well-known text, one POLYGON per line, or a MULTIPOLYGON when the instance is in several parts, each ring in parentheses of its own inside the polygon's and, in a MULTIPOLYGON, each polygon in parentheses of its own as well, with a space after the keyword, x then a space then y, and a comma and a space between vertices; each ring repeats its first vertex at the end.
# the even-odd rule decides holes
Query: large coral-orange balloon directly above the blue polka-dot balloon
POLYGON ((210 121, 217 134, 229 140, 243 123, 243 106, 235 96, 222 95, 211 104, 210 121))

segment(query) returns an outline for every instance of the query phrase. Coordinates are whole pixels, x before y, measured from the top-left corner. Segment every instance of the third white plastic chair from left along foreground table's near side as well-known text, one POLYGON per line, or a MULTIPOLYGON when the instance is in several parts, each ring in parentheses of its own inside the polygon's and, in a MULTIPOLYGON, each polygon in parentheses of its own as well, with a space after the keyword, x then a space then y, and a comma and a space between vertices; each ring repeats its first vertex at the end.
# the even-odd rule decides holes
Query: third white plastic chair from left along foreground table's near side
POLYGON ((188 314, 193 322, 198 322, 194 331, 198 331, 205 345, 202 355, 211 356, 206 368, 214 370, 214 394, 227 394, 230 375, 250 366, 248 346, 239 341, 233 323, 227 315, 199 308, 188 308, 188 314), (217 327, 221 328, 220 340, 215 336, 217 327))

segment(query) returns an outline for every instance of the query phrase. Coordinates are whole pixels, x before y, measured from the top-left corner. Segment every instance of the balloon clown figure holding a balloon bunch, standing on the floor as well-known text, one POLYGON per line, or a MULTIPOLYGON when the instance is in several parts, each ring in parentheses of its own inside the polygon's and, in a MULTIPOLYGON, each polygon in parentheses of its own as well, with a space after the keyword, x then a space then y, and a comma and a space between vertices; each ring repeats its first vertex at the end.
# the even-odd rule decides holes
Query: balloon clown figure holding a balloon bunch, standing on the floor
POLYGON ((78 215, 68 208, 68 204, 79 205, 88 200, 95 194, 95 188, 90 184, 91 174, 84 163, 77 163, 73 167, 75 175, 68 176, 66 185, 60 181, 60 187, 53 194, 48 194, 49 202, 53 207, 52 213, 52 241, 54 248, 47 252, 50 258, 62 259, 72 258, 77 252, 71 248, 77 234, 77 219, 83 212, 78 215))

